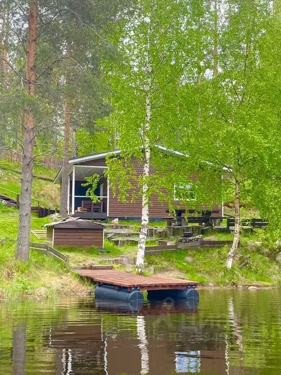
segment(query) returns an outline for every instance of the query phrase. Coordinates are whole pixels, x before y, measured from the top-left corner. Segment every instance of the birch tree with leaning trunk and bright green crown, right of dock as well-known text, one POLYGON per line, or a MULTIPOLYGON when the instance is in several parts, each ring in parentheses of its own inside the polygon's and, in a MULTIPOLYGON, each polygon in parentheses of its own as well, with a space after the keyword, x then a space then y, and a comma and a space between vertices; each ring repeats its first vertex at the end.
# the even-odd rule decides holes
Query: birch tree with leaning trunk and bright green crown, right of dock
POLYGON ((265 66, 261 64, 270 12, 266 0, 223 2, 213 36, 218 46, 213 79, 205 71, 199 87, 201 125, 194 126, 185 141, 184 134, 182 137, 182 148, 188 148, 190 156, 201 161, 201 188, 212 198, 218 193, 217 202, 223 198, 234 202, 235 229, 228 269, 240 243, 241 201, 255 196, 258 181, 269 167, 268 155, 274 153, 271 160, 279 159, 276 148, 269 146, 269 140, 278 142, 278 133, 268 87, 264 85, 265 66), (227 176, 221 183, 218 173, 227 176))

